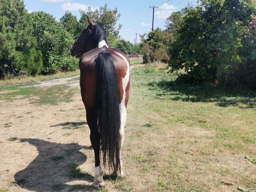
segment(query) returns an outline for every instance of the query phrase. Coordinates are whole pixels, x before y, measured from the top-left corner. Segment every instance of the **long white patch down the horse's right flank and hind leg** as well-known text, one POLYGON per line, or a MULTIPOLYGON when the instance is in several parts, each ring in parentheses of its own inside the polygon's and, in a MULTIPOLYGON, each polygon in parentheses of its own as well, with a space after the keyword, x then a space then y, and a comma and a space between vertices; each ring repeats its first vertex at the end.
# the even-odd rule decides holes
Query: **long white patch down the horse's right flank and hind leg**
MULTIPOLYGON (((126 87, 128 85, 128 81, 129 81, 130 65, 129 65, 129 62, 127 61, 127 59, 124 57, 124 55, 122 55, 122 54, 120 54, 118 52, 115 52, 115 53, 118 54, 120 57, 122 57, 122 59, 124 59, 124 61, 127 64, 126 75, 122 79, 122 87, 124 89, 124 94, 123 94, 123 97, 122 97, 122 101, 119 104, 119 110, 120 110, 120 116, 121 116, 121 126, 120 126, 119 133, 120 133, 120 138, 121 138, 121 149, 122 149, 122 145, 124 144, 124 126, 125 126, 125 123, 126 123, 126 115, 127 115, 126 107, 125 107, 125 89, 126 89, 126 87)), ((117 172, 116 175, 119 176, 119 177, 123 177, 124 173, 122 171, 121 150, 120 150, 120 166, 121 166, 120 172, 117 172)))

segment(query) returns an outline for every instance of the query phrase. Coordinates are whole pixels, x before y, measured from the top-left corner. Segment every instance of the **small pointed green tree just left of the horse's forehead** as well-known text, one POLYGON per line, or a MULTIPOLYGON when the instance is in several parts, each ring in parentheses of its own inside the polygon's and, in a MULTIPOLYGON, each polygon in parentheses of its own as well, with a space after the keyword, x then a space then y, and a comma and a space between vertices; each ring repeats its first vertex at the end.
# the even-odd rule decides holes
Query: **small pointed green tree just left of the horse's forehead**
POLYGON ((70 13, 69 11, 66 11, 65 15, 63 15, 60 18, 59 22, 74 37, 74 39, 80 36, 80 33, 81 33, 80 24, 76 16, 72 15, 72 13, 70 13))

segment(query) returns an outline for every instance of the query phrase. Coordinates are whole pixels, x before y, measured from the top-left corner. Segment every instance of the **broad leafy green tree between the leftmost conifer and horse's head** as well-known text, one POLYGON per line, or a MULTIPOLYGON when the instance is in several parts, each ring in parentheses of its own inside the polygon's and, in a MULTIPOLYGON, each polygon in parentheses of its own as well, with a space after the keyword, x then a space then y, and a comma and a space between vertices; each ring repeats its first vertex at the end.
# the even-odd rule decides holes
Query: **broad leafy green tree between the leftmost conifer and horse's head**
POLYGON ((52 15, 43 11, 31 15, 33 36, 37 38, 37 49, 43 54, 43 74, 55 73, 61 66, 67 66, 63 58, 69 57, 73 37, 52 15))

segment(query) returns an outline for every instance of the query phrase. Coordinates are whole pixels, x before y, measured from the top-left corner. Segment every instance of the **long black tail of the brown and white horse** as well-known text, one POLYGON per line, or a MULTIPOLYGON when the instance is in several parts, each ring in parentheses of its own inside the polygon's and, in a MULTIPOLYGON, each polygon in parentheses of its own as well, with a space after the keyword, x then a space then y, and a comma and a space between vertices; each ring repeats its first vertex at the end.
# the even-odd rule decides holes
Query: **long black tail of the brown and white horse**
POLYGON ((121 125, 117 79, 113 57, 108 52, 100 52, 95 59, 97 66, 97 105, 100 151, 103 165, 115 172, 120 170, 119 150, 121 148, 119 129, 121 125))

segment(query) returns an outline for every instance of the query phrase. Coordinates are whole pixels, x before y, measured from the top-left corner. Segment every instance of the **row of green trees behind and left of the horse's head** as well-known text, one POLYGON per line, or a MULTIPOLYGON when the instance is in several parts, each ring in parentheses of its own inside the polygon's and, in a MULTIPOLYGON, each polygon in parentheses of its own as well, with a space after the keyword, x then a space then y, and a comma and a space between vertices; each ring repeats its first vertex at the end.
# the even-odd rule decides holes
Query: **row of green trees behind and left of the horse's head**
POLYGON ((22 0, 0 0, 0 79, 76 70, 70 47, 88 25, 86 14, 102 23, 111 47, 132 54, 132 44, 120 39, 117 8, 105 4, 80 14, 78 20, 67 11, 58 22, 43 11, 28 13, 22 0))

